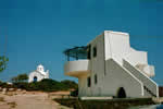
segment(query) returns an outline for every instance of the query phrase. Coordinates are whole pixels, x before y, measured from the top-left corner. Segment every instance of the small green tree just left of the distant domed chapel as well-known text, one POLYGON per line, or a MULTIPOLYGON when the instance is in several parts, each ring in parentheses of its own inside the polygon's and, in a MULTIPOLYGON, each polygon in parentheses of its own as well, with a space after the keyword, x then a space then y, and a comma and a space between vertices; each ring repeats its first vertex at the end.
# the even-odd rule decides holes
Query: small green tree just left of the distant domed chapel
POLYGON ((12 82, 25 82, 28 80, 28 75, 26 73, 18 74, 17 76, 12 77, 11 80, 12 82))

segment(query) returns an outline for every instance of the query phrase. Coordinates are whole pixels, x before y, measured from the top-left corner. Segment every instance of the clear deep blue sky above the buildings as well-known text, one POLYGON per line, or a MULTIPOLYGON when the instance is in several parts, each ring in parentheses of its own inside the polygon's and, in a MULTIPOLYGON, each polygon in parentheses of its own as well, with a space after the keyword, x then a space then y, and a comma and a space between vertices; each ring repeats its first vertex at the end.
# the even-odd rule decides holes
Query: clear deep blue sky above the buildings
POLYGON ((0 80, 39 63, 54 80, 75 80, 63 74, 63 50, 84 46, 103 31, 129 33, 131 47, 148 51, 153 80, 163 85, 161 0, 1 0, 0 55, 10 61, 0 80))

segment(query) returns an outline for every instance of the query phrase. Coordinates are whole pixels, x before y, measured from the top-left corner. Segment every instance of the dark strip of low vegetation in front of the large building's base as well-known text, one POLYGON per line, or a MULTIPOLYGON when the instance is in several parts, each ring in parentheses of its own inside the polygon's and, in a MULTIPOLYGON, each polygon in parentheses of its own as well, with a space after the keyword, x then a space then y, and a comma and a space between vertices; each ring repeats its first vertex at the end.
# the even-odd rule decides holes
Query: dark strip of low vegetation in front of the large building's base
POLYGON ((54 99, 73 109, 127 109, 133 106, 154 105, 152 98, 128 98, 109 100, 54 99))

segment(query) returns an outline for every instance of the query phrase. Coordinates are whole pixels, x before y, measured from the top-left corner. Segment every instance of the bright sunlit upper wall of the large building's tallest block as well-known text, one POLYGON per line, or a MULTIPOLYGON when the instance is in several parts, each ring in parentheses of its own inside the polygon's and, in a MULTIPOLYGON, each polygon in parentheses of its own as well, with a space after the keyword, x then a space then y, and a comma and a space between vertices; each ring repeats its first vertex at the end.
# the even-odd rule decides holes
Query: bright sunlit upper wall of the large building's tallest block
POLYGON ((105 60, 113 58, 122 64, 122 58, 130 51, 129 35, 104 31, 105 60))

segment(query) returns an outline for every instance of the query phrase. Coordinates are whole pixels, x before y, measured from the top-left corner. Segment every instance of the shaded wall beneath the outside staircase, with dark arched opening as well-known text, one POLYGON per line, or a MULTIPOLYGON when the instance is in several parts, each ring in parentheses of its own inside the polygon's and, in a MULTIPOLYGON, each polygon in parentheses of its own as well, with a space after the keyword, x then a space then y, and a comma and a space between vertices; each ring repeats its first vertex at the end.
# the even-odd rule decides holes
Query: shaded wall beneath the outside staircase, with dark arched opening
POLYGON ((102 94, 117 95, 120 87, 124 87, 127 97, 142 97, 143 84, 125 68, 113 59, 106 61, 106 76, 103 78, 102 94))

